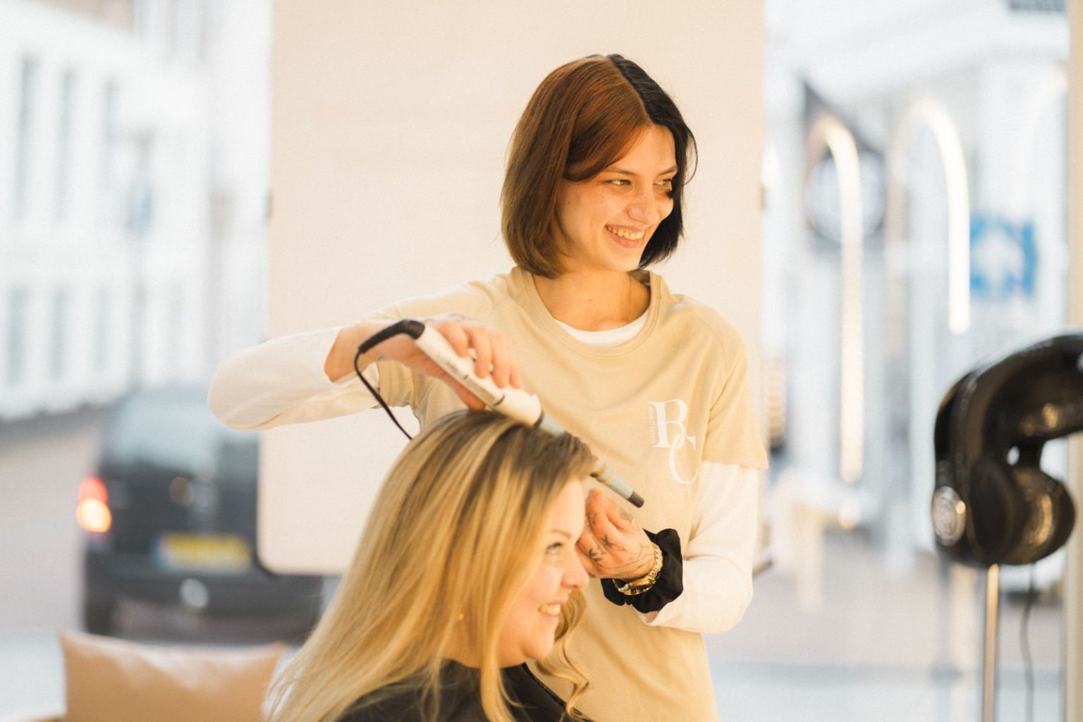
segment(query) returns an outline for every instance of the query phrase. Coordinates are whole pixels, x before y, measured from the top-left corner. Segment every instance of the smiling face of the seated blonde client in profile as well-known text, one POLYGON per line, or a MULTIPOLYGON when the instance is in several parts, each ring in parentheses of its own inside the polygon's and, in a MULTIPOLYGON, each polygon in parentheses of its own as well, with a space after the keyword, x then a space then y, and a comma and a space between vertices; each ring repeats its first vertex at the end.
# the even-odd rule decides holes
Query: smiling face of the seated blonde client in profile
POLYGON ((583 484, 571 481, 553 503, 536 567, 512 603, 497 646, 501 667, 542 659, 552 649, 560 608, 588 580, 575 553, 583 533, 583 484))

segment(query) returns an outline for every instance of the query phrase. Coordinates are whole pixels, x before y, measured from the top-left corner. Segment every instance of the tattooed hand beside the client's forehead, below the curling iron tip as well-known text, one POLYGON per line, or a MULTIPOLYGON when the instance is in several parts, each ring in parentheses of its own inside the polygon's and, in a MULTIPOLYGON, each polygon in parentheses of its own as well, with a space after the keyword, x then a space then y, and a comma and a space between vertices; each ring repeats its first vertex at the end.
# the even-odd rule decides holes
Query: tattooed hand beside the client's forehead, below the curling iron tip
POLYGON ((654 565, 647 534, 600 489, 587 495, 587 524, 576 551, 584 568, 603 579, 638 579, 654 565))

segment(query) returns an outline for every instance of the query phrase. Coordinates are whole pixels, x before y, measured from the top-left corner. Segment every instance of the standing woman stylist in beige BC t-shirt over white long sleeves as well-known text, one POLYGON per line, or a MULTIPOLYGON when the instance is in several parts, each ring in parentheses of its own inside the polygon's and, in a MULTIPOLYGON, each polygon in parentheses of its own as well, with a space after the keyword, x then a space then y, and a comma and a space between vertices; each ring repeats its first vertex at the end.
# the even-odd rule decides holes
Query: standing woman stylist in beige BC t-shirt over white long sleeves
MULTIPOLYGON (((602 580, 586 589, 572 651, 593 685, 577 705, 596 719, 717 719, 701 633, 732 627, 752 599, 753 470, 766 454, 744 346, 717 313, 645 270, 676 249, 694 155, 676 105, 635 63, 591 56, 557 68, 511 140, 501 194, 510 273, 242 352, 210 394, 238 429, 369 408, 353 355, 401 317, 429 319, 460 355, 472 349, 480 376, 537 394, 647 499, 636 521, 608 493, 587 499, 578 548, 602 580)), ((478 405, 438 382, 404 337, 361 363, 422 425, 478 405)))

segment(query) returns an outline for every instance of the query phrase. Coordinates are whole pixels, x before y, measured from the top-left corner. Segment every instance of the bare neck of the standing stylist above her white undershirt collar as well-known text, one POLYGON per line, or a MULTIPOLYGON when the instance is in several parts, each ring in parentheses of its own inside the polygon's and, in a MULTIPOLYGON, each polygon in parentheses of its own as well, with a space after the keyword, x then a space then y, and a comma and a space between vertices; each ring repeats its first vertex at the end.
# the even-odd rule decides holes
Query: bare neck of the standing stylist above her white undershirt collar
POLYGON ((651 292, 627 273, 572 271, 534 276, 542 303, 557 320, 582 331, 627 326, 643 315, 651 292))

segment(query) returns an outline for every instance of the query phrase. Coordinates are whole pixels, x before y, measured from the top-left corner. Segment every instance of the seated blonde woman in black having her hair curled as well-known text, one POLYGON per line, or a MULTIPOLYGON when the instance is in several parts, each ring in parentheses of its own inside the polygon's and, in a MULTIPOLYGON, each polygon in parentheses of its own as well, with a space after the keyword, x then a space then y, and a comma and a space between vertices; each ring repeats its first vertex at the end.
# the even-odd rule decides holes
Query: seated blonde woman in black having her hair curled
POLYGON ((274 722, 584 719, 563 646, 590 452, 488 411, 421 432, 396 461, 327 614, 275 683, 274 722), (550 657, 557 642, 561 649, 550 657), (572 684, 567 701, 524 664, 572 684))

